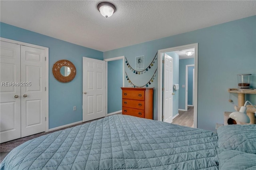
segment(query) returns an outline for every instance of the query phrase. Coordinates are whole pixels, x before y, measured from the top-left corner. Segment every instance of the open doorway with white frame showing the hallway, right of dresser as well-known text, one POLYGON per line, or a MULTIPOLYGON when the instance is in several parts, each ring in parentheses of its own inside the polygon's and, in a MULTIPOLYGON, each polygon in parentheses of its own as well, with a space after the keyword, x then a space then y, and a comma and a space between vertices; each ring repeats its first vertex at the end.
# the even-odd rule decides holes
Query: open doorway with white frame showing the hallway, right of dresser
MULTIPOLYGON (((173 103, 172 123, 197 127, 197 73, 198 73, 198 44, 158 50, 158 120, 163 121, 164 72, 162 63, 165 54, 173 59, 173 103), (191 72, 192 71, 192 72, 191 72), (192 83, 191 83, 192 82, 192 83), (177 88, 178 86, 178 88, 177 88)), ((171 104, 170 104, 171 105, 171 104)))

